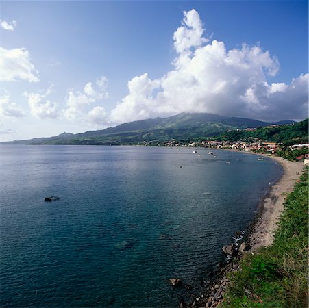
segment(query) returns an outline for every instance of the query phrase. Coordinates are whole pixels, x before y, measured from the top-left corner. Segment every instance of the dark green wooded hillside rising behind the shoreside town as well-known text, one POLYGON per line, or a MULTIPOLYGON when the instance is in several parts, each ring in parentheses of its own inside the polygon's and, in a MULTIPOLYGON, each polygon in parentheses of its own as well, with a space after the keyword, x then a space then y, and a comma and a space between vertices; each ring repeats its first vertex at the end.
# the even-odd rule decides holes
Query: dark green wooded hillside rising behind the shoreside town
POLYGON ((226 131, 218 140, 249 141, 262 139, 264 142, 282 143, 283 146, 308 143, 308 118, 294 125, 258 127, 254 131, 226 131))

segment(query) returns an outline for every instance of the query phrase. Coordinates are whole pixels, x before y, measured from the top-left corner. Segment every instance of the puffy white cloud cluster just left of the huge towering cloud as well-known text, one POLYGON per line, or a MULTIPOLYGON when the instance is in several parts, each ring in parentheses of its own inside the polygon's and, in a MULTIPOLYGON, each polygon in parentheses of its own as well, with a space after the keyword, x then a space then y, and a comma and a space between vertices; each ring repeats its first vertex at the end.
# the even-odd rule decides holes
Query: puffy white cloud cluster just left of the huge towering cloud
POLYGON ((87 112, 86 107, 101 99, 108 98, 107 85, 108 79, 102 76, 95 81, 95 84, 92 84, 92 82, 86 83, 82 91, 68 89, 65 99, 66 108, 63 111, 64 118, 68 120, 86 120, 93 124, 103 123, 103 119, 106 118, 103 107, 97 106, 90 112, 87 112))

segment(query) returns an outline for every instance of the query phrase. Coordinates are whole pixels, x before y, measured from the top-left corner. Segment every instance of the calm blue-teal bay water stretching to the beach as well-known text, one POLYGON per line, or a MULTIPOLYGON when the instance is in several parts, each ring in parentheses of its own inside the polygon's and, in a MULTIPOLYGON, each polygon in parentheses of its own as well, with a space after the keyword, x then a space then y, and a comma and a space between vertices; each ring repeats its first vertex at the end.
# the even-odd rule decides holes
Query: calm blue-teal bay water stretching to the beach
POLYGON ((213 152, 1 145, 1 307, 177 307, 198 294, 282 175, 271 159, 213 152))

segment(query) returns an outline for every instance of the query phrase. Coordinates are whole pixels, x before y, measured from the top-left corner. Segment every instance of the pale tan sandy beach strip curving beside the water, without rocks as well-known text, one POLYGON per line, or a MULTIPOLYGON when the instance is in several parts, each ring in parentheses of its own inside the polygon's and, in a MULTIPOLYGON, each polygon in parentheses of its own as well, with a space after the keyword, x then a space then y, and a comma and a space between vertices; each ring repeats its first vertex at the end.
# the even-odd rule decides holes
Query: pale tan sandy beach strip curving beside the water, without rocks
POLYGON ((294 185, 304 168, 302 162, 290 162, 282 157, 275 156, 271 158, 283 166, 284 174, 262 200, 260 216, 249 235, 249 242, 253 249, 273 244, 277 222, 280 220, 280 214, 284 209, 284 199, 293 191, 294 185))

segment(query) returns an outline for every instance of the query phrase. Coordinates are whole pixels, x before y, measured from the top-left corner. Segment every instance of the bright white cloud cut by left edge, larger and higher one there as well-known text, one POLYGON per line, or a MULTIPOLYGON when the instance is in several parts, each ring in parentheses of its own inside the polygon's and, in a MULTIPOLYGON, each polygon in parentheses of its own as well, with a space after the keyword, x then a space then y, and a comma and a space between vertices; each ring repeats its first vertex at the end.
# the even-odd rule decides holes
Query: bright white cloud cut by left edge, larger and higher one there
POLYGON ((25 80, 37 82, 38 70, 30 62, 29 51, 25 48, 4 49, 0 47, 2 81, 25 80))

